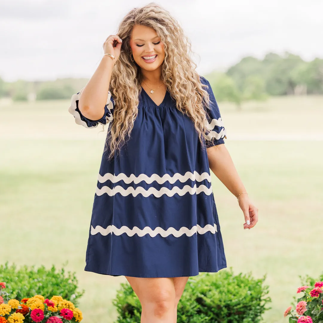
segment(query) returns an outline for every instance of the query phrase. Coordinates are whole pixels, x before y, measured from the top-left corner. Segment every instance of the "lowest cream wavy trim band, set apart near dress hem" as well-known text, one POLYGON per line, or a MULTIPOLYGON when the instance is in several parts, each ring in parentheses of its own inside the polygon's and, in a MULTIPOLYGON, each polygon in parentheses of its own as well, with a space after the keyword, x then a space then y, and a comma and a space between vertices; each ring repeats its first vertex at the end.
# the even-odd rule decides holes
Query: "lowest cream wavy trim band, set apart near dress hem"
POLYGON ((144 236, 145 234, 149 234, 151 237, 155 237, 157 234, 160 234, 163 238, 171 234, 176 238, 180 237, 183 234, 186 234, 188 237, 191 237, 193 234, 204 234, 208 231, 215 234, 215 232, 217 232, 216 224, 206 224, 204 228, 197 224, 194 225, 191 229, 182 226, 179 230, 176 230, 173 227, 164 230, 159 226, 156 229, 151 229, 149 226, 145 226, 143 229, 139 229, 137 226, 134 226, 133 229, 130 229, 125 225, 123 225, 120 229, 117 228, 115 225, 109 225, 106 229, 104 229, 100 225, 97 225, 95 228, 93 227, 93 225, 91 225, 92 235, 97 233, 100 233, 102 235, 108 235, 110 233, 114 233, 115 235, 121 235, 125 233, 130 237, 132 237, 135 234, 138 234, 138 236, 140 237, 144 236))

